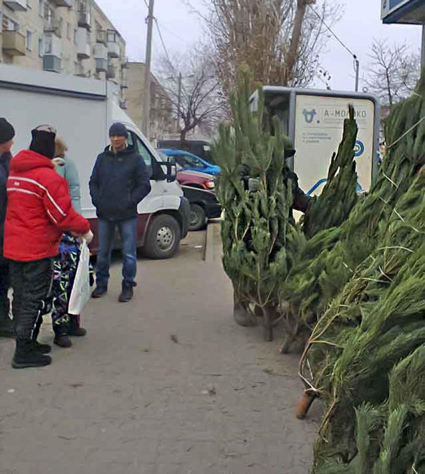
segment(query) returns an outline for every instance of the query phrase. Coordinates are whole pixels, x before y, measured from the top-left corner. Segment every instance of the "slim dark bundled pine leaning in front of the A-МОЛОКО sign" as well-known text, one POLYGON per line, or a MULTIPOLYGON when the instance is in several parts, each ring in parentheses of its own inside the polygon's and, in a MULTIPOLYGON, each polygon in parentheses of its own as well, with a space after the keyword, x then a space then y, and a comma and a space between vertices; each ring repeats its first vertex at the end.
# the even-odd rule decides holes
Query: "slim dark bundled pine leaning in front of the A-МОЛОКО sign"
POLYGON ((348 112, 342 141, 331 158, 326 185, 320 196, 312 199, 302 220, 306 239, 299 245, 294 264, 280 289, 285 322, 282 353, 314 325, 314 306, 318 304, 320 279, 327 269, 328 253, 341 238, 340 225, 358 201, 354 156, 358 128, 351 105, 348 112))

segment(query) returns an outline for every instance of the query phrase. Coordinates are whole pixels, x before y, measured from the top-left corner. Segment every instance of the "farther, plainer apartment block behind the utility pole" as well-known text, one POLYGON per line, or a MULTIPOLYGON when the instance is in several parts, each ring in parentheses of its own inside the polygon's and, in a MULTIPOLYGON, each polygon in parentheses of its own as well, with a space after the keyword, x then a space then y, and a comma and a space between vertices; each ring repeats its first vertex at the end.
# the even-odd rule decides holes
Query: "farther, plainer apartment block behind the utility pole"
MULTIPOLYGON (((141 127, 143 120, 144 63, 127 63, 127 113, 141 127)), ((172 102, 158 79, 150 74, 150 140, 156 142, 175 132, 176 118, 172 102)))

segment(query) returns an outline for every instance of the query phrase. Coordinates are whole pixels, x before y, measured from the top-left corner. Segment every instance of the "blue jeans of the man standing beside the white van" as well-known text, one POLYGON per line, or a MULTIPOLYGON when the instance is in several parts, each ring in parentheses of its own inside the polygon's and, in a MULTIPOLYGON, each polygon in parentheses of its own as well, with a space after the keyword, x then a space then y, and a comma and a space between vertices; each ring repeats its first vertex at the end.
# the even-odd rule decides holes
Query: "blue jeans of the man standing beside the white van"
POLYGON ((96 263, 96 286, 107 288, 110 254, 115 227, 118 227, 122 244, 122 281, 133 285, 137 271, 137 218, 128 220, 98 219, 99 252, 96 263))

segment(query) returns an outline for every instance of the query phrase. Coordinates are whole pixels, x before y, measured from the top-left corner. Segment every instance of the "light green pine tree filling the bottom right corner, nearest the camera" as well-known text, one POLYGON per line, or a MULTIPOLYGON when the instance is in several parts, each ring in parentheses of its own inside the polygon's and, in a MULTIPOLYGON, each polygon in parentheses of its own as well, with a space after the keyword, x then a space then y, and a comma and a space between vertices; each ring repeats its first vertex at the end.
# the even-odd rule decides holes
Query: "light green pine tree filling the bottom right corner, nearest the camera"
POLYGON ((425 474, 424 379, 421 345, 392 369, 384 403, 363 403, 355 410, 354 457, 324 459, 314 473, 425 474))

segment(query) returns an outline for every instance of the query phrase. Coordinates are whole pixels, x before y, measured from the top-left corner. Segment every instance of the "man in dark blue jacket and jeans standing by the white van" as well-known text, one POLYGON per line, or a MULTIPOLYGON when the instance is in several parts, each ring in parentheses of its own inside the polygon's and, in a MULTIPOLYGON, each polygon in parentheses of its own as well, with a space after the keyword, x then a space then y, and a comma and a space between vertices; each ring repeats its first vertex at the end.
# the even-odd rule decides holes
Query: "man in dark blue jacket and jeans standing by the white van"
POLYGON ((118 301, 133 297, 136 285, 137 204, 150 192, 149 172, 140 154, 127 145, 128 131, 122 123, 109 128, 110 146, 97 156, 90 177, 90 195, 98 217, 99 252, 93 298, 107 291, 115 228, 122 243, 122 291, 118 301))

